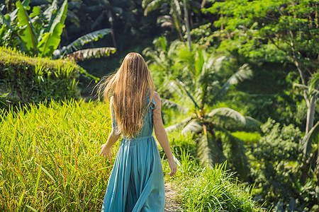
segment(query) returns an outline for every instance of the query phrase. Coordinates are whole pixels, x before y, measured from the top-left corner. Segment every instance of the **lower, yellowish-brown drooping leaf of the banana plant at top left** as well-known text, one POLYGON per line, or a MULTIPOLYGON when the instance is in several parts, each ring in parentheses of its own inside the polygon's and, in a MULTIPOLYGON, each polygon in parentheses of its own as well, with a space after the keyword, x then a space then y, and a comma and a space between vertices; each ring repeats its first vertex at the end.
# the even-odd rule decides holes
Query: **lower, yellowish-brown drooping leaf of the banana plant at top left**
POLYGON ((93 48, 93 49, 82 49, 71 54, 67 54, 67 57, 73 58, 74 61, 108 57, 116 52, 116 48, 113 47, 103 47, 103 48, 93 48))

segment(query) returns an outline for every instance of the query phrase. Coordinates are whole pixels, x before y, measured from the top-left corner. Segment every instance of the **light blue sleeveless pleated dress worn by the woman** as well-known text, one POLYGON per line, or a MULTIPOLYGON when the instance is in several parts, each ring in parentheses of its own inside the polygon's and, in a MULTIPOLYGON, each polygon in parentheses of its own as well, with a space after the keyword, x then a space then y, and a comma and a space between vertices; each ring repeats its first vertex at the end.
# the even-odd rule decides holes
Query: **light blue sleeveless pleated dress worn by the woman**
MULTIPOLYGON (((149 101, 150 98, 147 98, 147 103, 149 101)), ((108 180, 102 212, 164 211, 162 162, 152 136, 152 110, 155 107, 152 100, 144 114, 144 126, 139 136, 135 139, 122 139, 108 180)), ((113 129, 116 129, 114 111, 113 120, 113 129)))

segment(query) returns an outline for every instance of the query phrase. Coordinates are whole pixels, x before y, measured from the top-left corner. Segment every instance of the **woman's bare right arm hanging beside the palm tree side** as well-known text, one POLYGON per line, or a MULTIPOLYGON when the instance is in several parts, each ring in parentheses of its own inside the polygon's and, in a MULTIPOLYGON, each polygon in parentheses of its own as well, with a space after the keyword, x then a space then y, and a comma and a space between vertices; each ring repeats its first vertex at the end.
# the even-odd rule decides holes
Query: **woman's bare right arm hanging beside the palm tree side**
POLYGON ((155 101, 156 108, 152 112, 152 119, 155 128, 155 136, 157 141, 162 146, 164 153, 167 155, 167 160, 169 162, 169 167, 171 168, 171 173, 169 176, 175 175, 177 172, 177 165, 174 161, 174 156, 171 151, 171 147, 169 146, 169 139, 167 137, 166 131, 164 129, 163 121, 162 121, 162 112, 161 112, 161 98, 158 93, 154 93, 153 99, 155 101))

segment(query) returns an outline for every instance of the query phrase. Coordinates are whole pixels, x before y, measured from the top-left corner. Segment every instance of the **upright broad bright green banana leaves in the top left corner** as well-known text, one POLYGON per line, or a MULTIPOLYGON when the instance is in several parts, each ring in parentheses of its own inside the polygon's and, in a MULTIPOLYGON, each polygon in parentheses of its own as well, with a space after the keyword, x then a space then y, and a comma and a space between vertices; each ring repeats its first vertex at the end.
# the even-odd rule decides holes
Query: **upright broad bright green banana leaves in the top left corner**
MULTIPOLYGON (((27 9, 29 1, 17 1, 16 9, 4 16, 1 14, 2 27, 0 34, 9 37, 14 30, 17 30, 13 39, 18 40, 18 45, 29 55, 50 56, 60 44, 60 36, 64 28, 67 17, 67 1, 65 0, 57 11, 57 1, 53 1, 52 6, 40 13, 40 7, 33 7, 30 16, 27 9)), ((2 45, 7 45, 7 40, 2 45)), ((17 41, 13 41, 17 42, 17 41)))

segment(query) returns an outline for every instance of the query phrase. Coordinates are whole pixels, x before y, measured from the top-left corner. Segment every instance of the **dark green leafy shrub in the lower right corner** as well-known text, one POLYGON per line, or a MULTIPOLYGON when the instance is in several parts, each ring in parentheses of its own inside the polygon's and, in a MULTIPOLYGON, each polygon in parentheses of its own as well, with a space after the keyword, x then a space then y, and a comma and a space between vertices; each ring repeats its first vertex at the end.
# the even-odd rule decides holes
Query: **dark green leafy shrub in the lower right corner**
MULTIPOLYGON (((264 136, 252 147, 255 195, 260 195, 266 205, 274 203, 277 211, 318 209, 319 187, 315 183, 318 165, 315 160, 311 160, 311 168, 306 171, 308 176, 301 177, 305 171, 302 161, 307 156, 302 154, 301 131, 292 124, 280 126, 272 119, 261 128, 264 136), (269 192, 262 192, 265 189, 269 192)), ((318 157, 317 151, 310 152, 318 157)), ((310 160, 309 154, 306 160, 310 160)))

